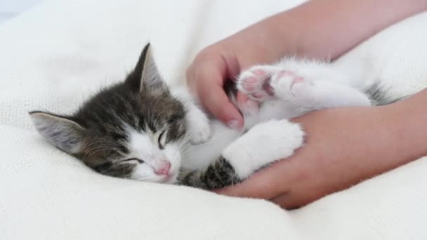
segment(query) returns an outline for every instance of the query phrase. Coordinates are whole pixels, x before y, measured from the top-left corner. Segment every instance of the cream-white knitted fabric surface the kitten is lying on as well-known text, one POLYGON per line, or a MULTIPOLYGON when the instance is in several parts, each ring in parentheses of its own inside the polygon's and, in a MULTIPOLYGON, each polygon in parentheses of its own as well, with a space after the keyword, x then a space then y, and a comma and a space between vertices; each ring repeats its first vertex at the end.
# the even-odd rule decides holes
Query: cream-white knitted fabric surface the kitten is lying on
MULTIPOLYGON (((48 145, 27 111, 72 112, 124 77, 150 40, 171 83, 213 41, 301 1, 45 1, 0 25, 0 239, 427 239, 427 161, 297 211, 199 189, 109 178, 48 145)), ((427 81, 427 13, 341 60, 390 94, 427 81), (347 63, 346 63, 347 62, 347 63)))

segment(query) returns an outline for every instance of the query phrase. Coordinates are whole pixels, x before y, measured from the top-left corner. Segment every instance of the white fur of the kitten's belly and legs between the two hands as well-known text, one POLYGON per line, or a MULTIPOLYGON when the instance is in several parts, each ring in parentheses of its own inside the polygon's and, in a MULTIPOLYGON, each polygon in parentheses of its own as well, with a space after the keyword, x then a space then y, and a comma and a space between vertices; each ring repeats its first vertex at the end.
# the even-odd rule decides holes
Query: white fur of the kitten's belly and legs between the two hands
MULTIPOLYGON (((242 131, 230 129, 218 120, 211 121, 211 138, 192 146, 183 156, 182 167, 202 170, 223 154, 237 175, 247 178, 262 166, 291 156, 303 145, 303 130, 286 119, 316 109, 369 106, 369 98, 362 93, 364 89, 357 89, 362 84, 354 84, 356 82, 357 79, 351 79, 324 62, 284 58, 275 65, 251 67, 239 75, 237 88, 253 100, 262 102, 261 107, 254 112, 252 106, 241 106, 245 121, 242 131), (270 81, 273 94, 265 91, 265 81, 270 81), (260 98, 256 98, 254 93, 260 93, 261 97, 257 95, 260 98)), ((187 104, 192 103, 188 101, 187 104)), ((204 135, 197 133, 198 129, 206 129, 205 118, 191 118, 192 135, 204 135)))

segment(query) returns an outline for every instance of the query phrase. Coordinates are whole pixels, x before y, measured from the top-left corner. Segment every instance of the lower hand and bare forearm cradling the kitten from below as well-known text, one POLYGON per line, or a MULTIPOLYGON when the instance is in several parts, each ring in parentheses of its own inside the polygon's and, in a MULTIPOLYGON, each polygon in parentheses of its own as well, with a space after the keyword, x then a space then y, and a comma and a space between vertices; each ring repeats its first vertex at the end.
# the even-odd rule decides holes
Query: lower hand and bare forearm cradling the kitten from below
MULTIPOLYGON (((421 114, 422 106, 416 111, 421 114)), ((408 107, 390 105, 327 109, 300 116, 293 121, 306 131, 306 144, 294 156, 218 193, 269 199, 282 208, 296 208, 355 185, 425 154, 425 146, 414 145, 426 138, 426 131, 419 131, 423 123, 409 120, 413 125, 405 124, 413 119, 408 114, 412 114, 408 107)), ((426 116, 423 113, 421 119, 426 116)))

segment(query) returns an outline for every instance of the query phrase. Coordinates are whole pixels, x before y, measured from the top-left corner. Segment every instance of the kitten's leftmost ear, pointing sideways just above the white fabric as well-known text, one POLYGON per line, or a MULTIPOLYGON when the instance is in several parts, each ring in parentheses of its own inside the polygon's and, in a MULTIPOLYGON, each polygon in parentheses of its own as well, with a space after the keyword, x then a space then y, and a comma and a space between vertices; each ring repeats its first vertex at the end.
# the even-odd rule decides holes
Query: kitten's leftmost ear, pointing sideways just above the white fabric
POLYGON ((80 152, 85 129, 77 122, 65 116, 53 115, 47 112, 30 112, 29 116, 31 116, 37 131, 51 145, 68 154, 80 152))

